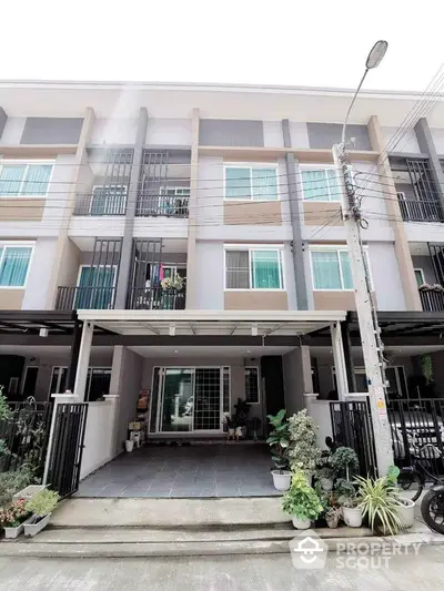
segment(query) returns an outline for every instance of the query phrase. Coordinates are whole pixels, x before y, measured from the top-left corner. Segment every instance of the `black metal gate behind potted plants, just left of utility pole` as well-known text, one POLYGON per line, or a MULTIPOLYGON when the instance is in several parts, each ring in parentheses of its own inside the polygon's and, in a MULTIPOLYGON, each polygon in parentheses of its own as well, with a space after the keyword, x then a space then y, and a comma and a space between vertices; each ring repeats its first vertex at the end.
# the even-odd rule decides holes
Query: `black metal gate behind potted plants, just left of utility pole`
POLYGON ((377 463, 370 412, 367 400, 330 403, 335 444, 355 450, 361 476, 375 477, 377 463))

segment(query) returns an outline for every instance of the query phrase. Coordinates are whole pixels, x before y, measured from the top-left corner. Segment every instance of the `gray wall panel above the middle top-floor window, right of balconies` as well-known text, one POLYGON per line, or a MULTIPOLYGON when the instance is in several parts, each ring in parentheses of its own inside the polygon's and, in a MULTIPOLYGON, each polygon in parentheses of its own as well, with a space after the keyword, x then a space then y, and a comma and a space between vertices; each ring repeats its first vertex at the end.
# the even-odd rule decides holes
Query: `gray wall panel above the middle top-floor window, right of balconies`
POLYGON ((199 143, 263 147, 263 123, 248 120, 201 119, 199 143))

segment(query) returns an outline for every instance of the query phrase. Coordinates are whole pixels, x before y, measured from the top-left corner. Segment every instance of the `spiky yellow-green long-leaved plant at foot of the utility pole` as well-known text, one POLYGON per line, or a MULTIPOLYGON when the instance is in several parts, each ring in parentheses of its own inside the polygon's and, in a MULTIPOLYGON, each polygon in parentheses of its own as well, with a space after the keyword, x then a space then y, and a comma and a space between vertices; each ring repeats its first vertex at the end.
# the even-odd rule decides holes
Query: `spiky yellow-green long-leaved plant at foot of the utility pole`
POLYGON ((398 489, 386 476, 377 479, 356 477, 360 508, 373 532, 394 536, 401 529, 398 489))

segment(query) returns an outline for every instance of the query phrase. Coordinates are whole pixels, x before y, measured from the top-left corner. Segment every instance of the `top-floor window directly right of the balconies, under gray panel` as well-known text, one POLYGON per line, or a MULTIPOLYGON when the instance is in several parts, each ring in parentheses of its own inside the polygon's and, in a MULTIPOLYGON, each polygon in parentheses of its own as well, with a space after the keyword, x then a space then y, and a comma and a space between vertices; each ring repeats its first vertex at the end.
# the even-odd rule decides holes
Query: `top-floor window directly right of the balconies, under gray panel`
POLYGON ((278 198, 275 166, 225 166, 225 200, 278 198))

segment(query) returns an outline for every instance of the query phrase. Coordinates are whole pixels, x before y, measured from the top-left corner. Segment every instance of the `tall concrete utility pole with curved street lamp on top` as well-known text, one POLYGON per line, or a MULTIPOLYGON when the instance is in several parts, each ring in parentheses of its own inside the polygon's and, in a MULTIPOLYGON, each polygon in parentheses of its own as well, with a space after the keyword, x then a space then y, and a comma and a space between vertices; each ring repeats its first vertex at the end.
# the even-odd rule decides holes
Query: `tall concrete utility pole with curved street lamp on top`
POLYGON ((385 476, 393 465, 391 427, 386 407, 386 379, 384 346, 381 329, 377 325, 376 309, 372 300, 372 285, 361 240, 361 205, 356 200, 356 191, 351 164, 346 159, 345 131, 350 112, 369 70, 376 68, 387 49, 386 41, 377 41, 371 50, 365 73, 350 104, 342 129, 341 144, 333 146, 333 160, 337 170, 339 185, 342 194, 342 215, 346 232, 346 242, 355 292, 356 313, 360 325, 365 374, 369 386, 369 399, 372 412, 375 438, 376 461, 380 476, 385 476))

